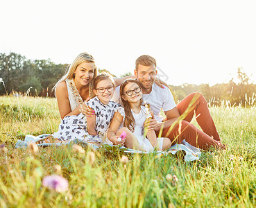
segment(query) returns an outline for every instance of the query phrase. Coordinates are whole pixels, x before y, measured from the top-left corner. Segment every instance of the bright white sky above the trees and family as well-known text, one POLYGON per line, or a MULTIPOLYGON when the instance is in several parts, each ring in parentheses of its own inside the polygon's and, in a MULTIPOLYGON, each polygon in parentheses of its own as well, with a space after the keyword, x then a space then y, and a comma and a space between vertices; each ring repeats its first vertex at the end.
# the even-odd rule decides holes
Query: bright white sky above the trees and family
POLYGON ((153 56, 170 85, 256 84, 256 1, 0 1, 0 53, 70 64, 84 51, 120 76, 153 56))

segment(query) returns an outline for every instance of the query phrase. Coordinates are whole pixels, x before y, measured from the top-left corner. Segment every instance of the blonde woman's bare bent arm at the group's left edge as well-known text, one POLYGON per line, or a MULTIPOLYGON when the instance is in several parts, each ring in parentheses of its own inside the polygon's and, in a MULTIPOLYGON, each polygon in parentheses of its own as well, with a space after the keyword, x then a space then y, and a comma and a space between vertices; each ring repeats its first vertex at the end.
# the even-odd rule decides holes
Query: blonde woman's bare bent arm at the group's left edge
POLYGON ((78 107, 71 111, 69 103, 69 94, 67 92, 67 85, 65 81, 58 83, 56 87, 56 97, 61 119, 64 119, 65 116, 78 115, 80 114, 80 112, 83 111, 84 104, 78 105, 78 107))

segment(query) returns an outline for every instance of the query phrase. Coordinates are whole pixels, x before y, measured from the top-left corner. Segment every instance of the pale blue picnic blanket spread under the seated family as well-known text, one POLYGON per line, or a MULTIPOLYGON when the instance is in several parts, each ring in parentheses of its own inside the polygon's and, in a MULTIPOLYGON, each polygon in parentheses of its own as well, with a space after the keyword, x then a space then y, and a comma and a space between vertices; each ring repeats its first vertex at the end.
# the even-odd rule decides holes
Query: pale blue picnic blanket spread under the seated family
MULTIPOLYGON (((43 139, 44 137, 49 136, 49 134, 44 134, 44 135, 39 135, 37 137, 33 136, 33 135, 26 135, 24 141, 22 140, 18 140, 17 143, 15 144, 15 148, 23 148, 28 146, 29 142, 35 142, 37 140, 43 139)), ((96 146, 92 143, 88 143, 83 141, 82 139, 74 139, 71 140, 67 143, 43 143, 43 144, 37 144, 37 146, 62 146, 62 145, 72 145, 72 144, 82 144, 82 146, 90 146, 94 149, 97 149, 101 146, 114 146, 111 144, 106 144, 103 143, 101 146, 96 146)), ((126 148, 124 146, 119 146, 119 149, 124 149, 124 153, 138 153, 138 154, 148 154, 148 153, 152 153, 151 152, 145 152, 145 151, 140 151, 140 150, 133 150, 130 148, 126 148)), ((201 156, 201 152, 199 148, 196 148, 194 146, 191 146, 191 144, 187 143, 187 141, 183 140, 181 144, 175 144, 173 146, 171 146, 171 148, 164 150, 164 151, 157 151, 157 155, 169 155, 170 153, 175 155, 178 151, 183 150, 185 151, 186 155, 184 157, 185 162, 190 162, 190 161, 194 161, 196 159, 199 159, 201 156)))

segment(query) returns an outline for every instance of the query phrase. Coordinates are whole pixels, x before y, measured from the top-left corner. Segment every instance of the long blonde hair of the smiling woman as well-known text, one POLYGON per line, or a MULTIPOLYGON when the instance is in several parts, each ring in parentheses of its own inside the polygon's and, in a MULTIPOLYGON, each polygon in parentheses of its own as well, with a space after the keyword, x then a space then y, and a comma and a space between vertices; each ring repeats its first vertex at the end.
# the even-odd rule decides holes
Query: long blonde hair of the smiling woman
MULTIPOLYGON (((75 78, 74 72, 76 71, 76 68, 78 67, 78 65, 82 64, 83 62, 93 62, 94 63, 94 76, 92 78, 92 81, 93 81, 94 77, 97 76, 97 69, 95 66, 94 58, 89 53, 83 52, 83 53, 80 53, 75 58, 75 60, 69 65, 69 70, 65 73, 64 76, 62 76, 62 78, 60 78, 60 80, 58 80, 56 85, 54 85, 53 89, 56 91, 56 86, 58 85, 58 83, 62 82, 63 80, 75 78)), ((91 81, 91 85, 92 85, 92 81, 91 81)))

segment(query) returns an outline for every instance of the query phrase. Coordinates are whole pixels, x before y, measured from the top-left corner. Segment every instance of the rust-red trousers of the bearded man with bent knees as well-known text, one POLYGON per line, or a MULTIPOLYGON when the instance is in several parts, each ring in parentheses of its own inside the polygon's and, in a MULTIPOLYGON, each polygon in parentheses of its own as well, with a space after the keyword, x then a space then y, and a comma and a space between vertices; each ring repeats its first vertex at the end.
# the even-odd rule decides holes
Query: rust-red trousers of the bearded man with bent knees
MULTIPOLYGON (((207 149, 210 146, 225 148, 220 142, 219 133, 212 120, 207 101, 202 94, 199 92, 189 94, 178 103, 177 108, 180 115, 184 114, 185 118, 178 122, 173 129, 169 130, 171 127, 164 128, 161 137, 168 137, 173 144, 180 144, 180 142, 185 139, 192 146, 201 149, 207 149), (189 103, 190 105, 193 103, 193 105, 189 107, 189 103), (188 107, 189 111, 186 112, 188 107), (198 125, 203 131, 190 123, 194 115, 196 116, 198 125)), ((157 135, 158 133, 159 132, 157 132, 157 135)))

